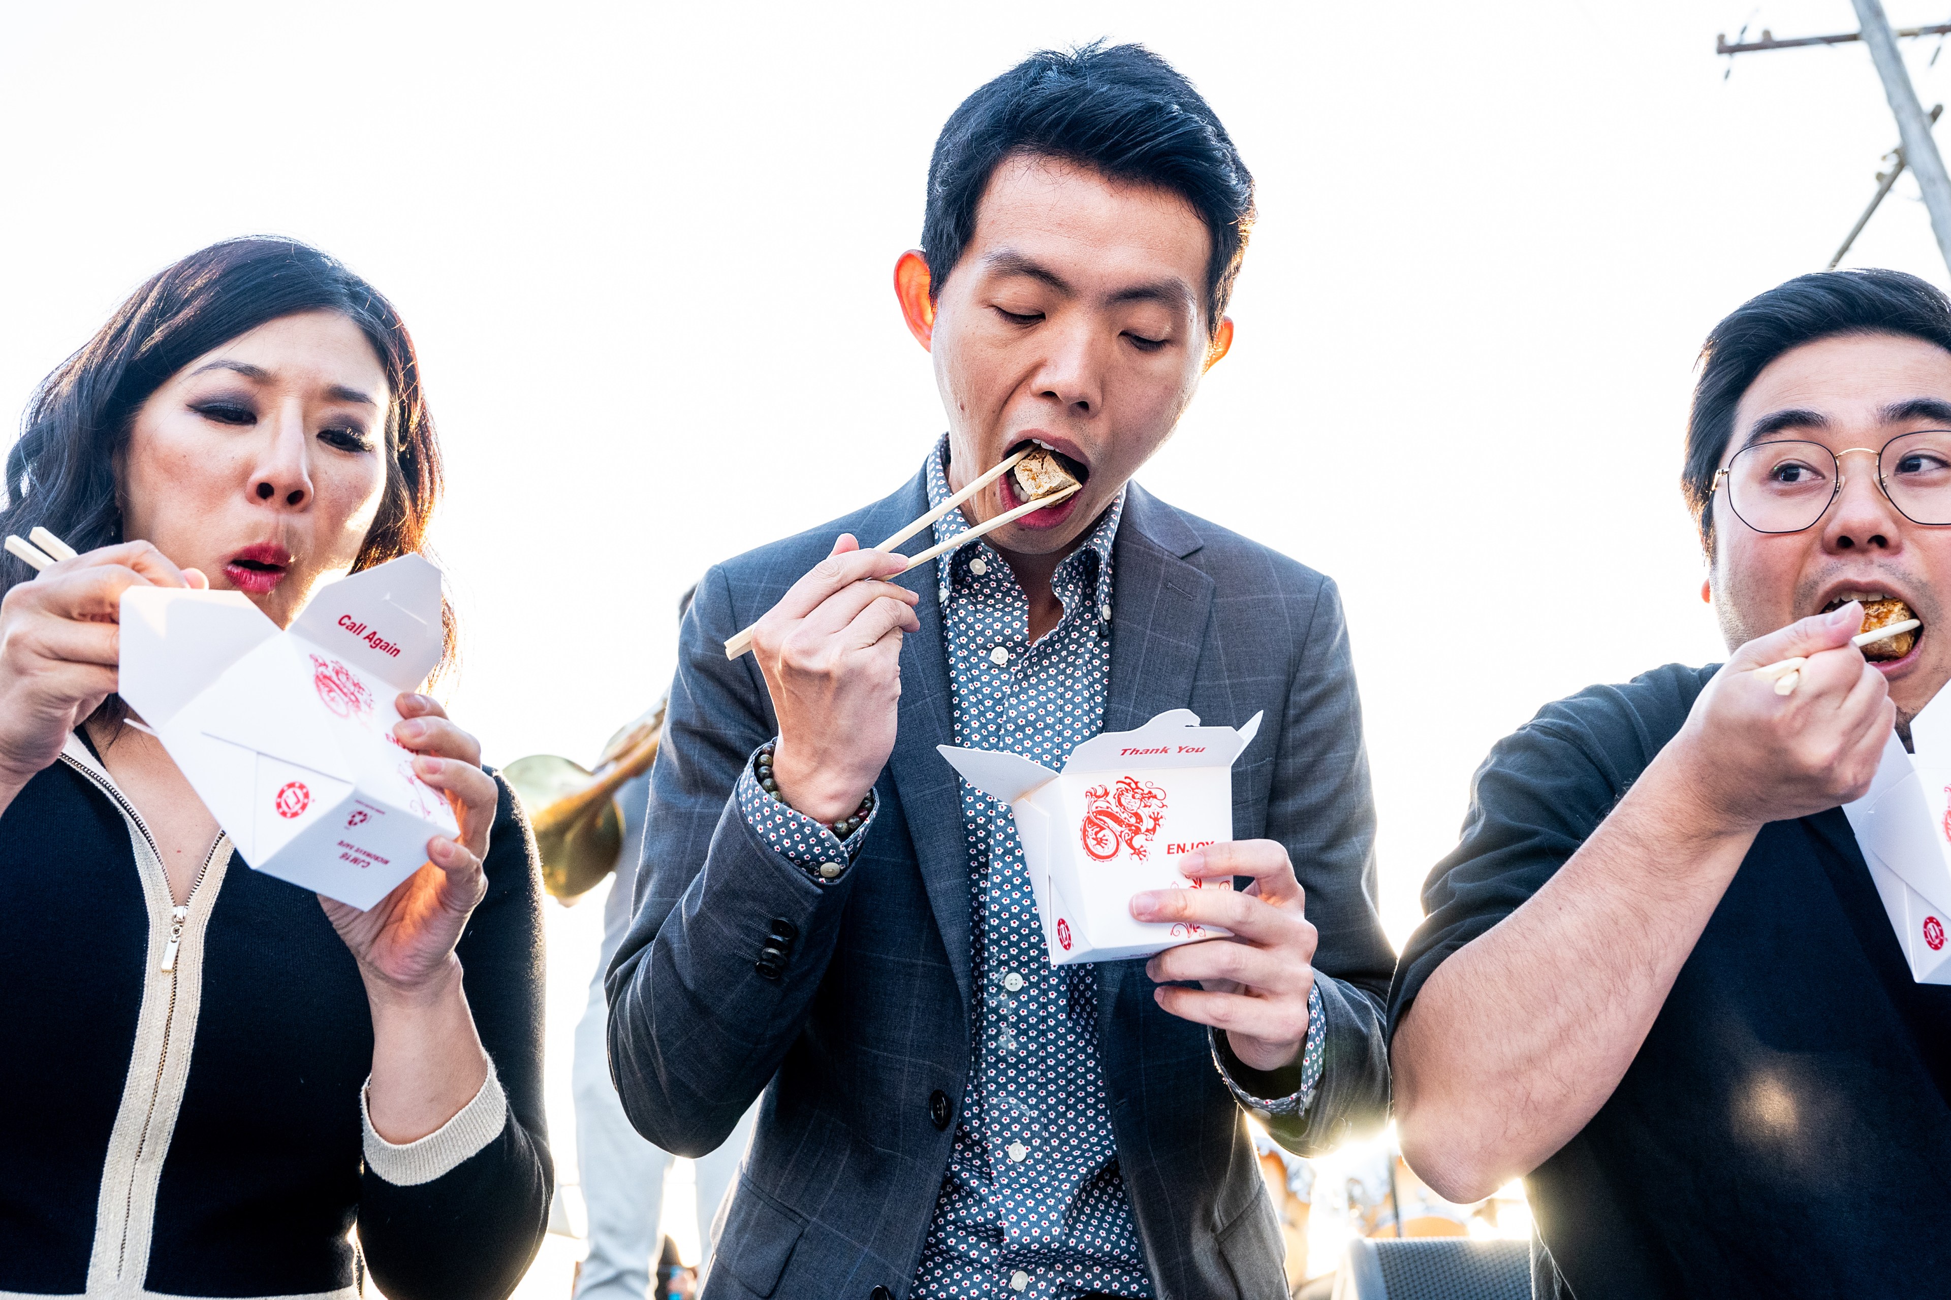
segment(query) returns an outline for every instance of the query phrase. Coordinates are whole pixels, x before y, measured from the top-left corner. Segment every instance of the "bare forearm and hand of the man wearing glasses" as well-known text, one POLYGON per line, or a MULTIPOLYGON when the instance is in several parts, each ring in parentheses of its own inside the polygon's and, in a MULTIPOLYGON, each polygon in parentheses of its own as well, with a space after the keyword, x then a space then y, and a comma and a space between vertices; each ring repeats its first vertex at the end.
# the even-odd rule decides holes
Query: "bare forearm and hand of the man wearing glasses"
MULTIPOLYGON (((1450 953, 1401 1015, 1403 1158, 1440 1195, 1479 1201, 1584 1128, 1639 1052, 1754 834, 1867 789, 1894 707, 1883 676, 1848 645, 1861 612, 1838 614, 1744 645, 1565 865, 1450 953), (1789 655, 1811 661, 1783 700, 1748 669, 1789 655)), ((1526 817, 1522 807, 1510 815, 1526 817)), ((1553 815, 1541 807, 1532 821, 1553 815)))

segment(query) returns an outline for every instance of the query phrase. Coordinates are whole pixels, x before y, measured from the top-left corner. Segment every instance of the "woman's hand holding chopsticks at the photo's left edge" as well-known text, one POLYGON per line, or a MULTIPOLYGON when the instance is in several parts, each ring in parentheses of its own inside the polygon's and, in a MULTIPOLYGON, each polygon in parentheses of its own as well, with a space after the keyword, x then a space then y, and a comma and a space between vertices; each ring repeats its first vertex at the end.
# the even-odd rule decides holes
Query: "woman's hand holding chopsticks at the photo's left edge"
POLYGON ((62 559, 0 600, 0 809, 115 692, 131 587, 201 591, 209 581, 148 542, 123 542, 62 559))

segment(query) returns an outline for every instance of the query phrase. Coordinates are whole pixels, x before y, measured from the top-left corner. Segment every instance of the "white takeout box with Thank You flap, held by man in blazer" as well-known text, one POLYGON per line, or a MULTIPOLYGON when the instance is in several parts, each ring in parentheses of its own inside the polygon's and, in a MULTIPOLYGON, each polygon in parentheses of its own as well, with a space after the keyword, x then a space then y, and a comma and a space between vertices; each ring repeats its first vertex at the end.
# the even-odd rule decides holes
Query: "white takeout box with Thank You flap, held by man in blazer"
POLYGON ((1235 731, 1171 709, 1137 731, 1091 737, 1063 772, 993 748, 936 748, 962 780, 1016 815, 1050 965, 1061 967, 1149 957, 1227 934, 1139 922, 1130 904, 1147 889, 1200 889, 1178 873, 1178 860, 1233 838, 1233 760, 1258 729, 1258 713, 1235 731))

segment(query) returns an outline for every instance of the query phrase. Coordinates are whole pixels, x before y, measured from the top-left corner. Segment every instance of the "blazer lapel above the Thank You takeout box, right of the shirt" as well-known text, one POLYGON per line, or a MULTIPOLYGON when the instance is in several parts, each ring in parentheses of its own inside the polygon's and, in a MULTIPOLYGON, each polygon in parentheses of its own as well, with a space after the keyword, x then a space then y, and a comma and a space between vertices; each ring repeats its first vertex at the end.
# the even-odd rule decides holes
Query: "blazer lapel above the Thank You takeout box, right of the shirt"
MULTIPOLYGON (((1200 536, 1178 513, 1132 483, 1112 548, 1110 692, 1104 731, 1141 727, 1192 704, 1200 647, 1212 618, 1214 581, 1182 557, 1200 536)), ((1143 961, 1098 963, 1098 998, 1116 1006, 1126 976, 1143 961)), ((1098 1017, 1104 1035, 1116 1015, 1098 1017)))

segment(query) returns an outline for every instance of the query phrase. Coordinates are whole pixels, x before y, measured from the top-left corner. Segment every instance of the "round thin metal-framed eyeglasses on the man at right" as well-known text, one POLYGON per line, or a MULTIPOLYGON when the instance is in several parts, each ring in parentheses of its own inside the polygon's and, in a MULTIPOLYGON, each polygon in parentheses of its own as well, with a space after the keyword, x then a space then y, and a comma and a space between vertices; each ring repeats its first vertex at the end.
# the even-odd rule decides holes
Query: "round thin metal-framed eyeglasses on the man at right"
POLYGON ((1713 476, 1727 485, 1727 505, 1756 532, 1803 532, 1828 513, 1848 479, 1842 458, 1877 458, 1877 485, 1898 515, 1914 524, 1951 524, 1951 429, 1912 429, 1883 448, 1795 439, 1756 442, 1734 452, 1713 476))

